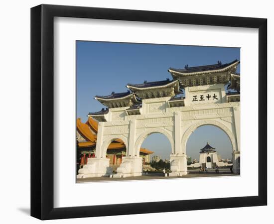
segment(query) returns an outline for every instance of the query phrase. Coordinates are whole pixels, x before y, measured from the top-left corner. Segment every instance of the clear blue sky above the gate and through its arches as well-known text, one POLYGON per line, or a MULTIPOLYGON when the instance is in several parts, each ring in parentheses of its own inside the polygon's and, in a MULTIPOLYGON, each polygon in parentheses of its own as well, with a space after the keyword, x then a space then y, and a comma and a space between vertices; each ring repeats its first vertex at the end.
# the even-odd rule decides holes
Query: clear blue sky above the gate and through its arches
MULTIPOLYGON (((167 72, 169 67, 184 68, 186 64, 192 67, 217 61, 225 64, 235 59, 240 59, 240 48, 76 41, 77 117, 84 122, 88 112, 104 107, 93 99, 95 95, 126 92, 128 83, 172 79, 167 72)), ((240 66, 238 72, 239 69, 240 66)), ((199 127, 192 133, 187 142, 187 155, 198 159, 199 150, 207 141, 222 158, 231 158, 227 135, 213 126, 199 127)), ((148 136, 142 147, 163 159, 169 158, 171 152, 162 134, 148 136)))

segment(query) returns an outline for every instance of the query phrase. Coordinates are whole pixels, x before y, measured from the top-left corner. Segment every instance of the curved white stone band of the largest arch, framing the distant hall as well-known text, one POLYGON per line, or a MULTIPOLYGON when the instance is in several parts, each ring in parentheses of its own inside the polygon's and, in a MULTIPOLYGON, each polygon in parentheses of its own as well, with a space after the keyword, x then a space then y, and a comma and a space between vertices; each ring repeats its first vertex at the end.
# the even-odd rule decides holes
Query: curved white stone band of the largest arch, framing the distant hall
POLYGON ((204 125, 213 125, 216 127, 219 127, 222 129, 229 137, 232 149, 233 151, 238 151, 237 144, 236 144, 236 136, 231 132, 231 130, 222 122, 219 122, 217 120, 201 120, 194 124, 192 124, 183 134, 181 139, 181 147, 183 150, 186 148, 186 143, 189 138, 189 136, 192 134, 193 131, 195 131, 198 127, 204 126, 204 125))

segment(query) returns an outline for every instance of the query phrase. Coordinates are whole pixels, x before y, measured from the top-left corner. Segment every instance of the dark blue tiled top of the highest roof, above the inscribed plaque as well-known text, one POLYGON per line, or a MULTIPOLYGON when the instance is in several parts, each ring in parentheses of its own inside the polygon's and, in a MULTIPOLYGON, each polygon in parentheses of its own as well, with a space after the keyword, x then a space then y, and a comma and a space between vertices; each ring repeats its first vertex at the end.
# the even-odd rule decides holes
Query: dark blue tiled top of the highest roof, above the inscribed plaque
POLYGON ((175 69, 175 68, 169 68, 169 69, 176 72, 181 72, 181 73, 203 72, 203 71, 223 69, 237 61, 238 60, 236 59, 227 64, 222 64, 220 61, 218 61, 218 63, 214 65, 203 65, 203 66, 196 66, 196 67, 188 67, 188 65, 186 65, 184 69, 175 69))

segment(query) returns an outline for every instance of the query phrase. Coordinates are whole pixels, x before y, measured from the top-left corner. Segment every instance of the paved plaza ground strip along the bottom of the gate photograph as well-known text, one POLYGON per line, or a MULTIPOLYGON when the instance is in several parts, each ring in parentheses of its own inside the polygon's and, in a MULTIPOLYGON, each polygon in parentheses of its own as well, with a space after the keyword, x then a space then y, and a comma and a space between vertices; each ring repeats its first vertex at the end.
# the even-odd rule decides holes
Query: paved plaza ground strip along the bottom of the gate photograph
POLYGON ((77 183, 86 182, 101 182, 101 181, 129 181, 129 180, 153 180, 153 179, 174 179, 174 178, 196 178, 196 177, 224 177, 224 176, 239 176, 239 174, 231 173, 230 169, 220 169, 219 173, 215 173, 215 169, 209 169, 208 172, 200 172, 199 169, 188 170, 188 175, 181 177, 164 177, 163 173, 148 173, 138 177, 126 178, 110 178, 110 177, 93 177, 77 179, 77 183))

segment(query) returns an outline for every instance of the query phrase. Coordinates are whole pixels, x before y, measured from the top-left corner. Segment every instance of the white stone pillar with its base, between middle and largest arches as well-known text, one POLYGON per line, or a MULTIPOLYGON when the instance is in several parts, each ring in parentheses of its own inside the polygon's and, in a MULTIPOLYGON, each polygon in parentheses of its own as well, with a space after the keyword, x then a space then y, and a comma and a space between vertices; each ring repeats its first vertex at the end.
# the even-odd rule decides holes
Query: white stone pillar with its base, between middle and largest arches
POLYGON ((181 113, 175 112, 175 154, 170 155, 170 177, 183 176, 187 174, 187 158, 185 148, 181 148, 181 113))

